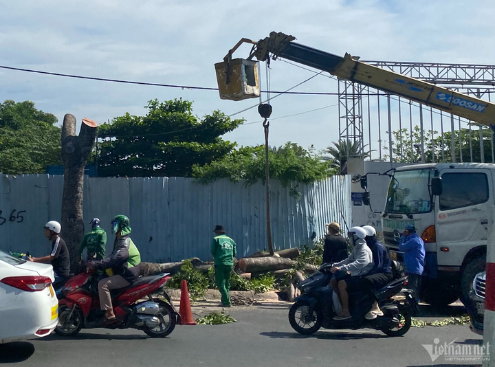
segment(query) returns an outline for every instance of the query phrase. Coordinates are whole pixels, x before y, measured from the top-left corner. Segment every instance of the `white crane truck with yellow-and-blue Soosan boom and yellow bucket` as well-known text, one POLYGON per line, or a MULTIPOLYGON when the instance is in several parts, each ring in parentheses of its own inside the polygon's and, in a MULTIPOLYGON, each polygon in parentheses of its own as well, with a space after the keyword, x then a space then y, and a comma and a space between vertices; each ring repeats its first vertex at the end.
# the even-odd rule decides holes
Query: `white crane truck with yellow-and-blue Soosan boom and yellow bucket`
MULTIPOLYGON (((258 72, 252 58, 285 58, 492 129, 495 125, 493 102, 381 69, 349 54, 341 57, 300 45, 295 39, 280 32, 260 41, 242 38, 223 63, 215 65, 220 97, 258 97, 258 72), (243 43, 253 45, 250 56, 232 60, 243 43)), ((426 247, 422 298, 430 304, 450 304, 459 297, 466 303, 474 276, 485 269, 487 238, 494 220, 494 180, 495 164, 421 164, 397 168, 393 173, 382 214, 385 243, 391 256, 401 260, 399 236, 407 224, 417 227, 426 247)), ((361 183, 366 189, 366 179, 361 183)), ((363 203, 369 205, 366 190, 363 203)))

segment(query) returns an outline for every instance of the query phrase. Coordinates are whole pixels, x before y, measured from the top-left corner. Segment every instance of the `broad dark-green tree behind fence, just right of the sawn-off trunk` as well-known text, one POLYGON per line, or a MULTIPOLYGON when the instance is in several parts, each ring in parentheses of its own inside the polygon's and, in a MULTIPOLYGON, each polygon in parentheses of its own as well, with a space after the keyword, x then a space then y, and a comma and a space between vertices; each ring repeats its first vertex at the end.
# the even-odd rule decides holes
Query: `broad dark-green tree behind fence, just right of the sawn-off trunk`
POLYGON ((94 159, 100 176, 191 177, 192 166, 209 164, 232 151, 235 143, 221 135, 243 120, 214 111, 201 120, 192 115, 192 102, 151 100, 145 116, 129 113, 102 124, 94 159))

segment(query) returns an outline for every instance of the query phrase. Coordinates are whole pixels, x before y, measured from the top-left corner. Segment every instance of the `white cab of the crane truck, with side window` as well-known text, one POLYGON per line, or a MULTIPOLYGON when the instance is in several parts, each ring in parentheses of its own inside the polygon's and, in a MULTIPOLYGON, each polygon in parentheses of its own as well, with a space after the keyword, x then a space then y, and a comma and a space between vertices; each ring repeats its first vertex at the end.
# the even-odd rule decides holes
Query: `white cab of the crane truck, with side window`
POLYGON ((384 242, 391 258, 402 261, 399 238, 406 225, 415 225, 425 243, 426 302, 469 302, 474 276, 485 270, 494 182, 495 164, 419 164, 393 173, 382 214, 384 242))

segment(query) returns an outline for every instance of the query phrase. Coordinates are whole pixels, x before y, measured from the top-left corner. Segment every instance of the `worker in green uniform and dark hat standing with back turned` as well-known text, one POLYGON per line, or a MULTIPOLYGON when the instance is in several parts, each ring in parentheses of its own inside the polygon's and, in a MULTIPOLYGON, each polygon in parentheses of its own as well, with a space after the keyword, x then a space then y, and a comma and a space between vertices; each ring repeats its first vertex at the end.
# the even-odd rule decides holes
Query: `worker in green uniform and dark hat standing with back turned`
POLYGON ((230 307, 230 273, 236 256, 236 244, 232 238, 225 235, 225 228, 217 225, 213 230, 210 252, 214 258, 215 281, 221 294, 221 307, 230 307))

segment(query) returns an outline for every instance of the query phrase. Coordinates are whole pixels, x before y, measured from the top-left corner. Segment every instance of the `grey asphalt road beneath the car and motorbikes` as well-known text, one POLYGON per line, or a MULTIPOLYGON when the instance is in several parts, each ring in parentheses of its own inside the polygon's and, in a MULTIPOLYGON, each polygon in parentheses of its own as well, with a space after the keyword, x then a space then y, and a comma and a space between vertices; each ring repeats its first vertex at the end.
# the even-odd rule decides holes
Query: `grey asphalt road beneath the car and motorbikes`
MULTIPOLYGON (((481 344, 467 325, 411 328, 404 337, 380 331, 325 331, 309 337, 292 330, 289 304, 233 307, 238 322, 219 326, 177 326, 166 339, 141 331, 83 330, 76 337, 50 335, 0 346, 5 366, 450 366, 434 363, 421 344, 435 338, 481 344)), ((207 309, 195 308, 195 313, 207 309)), ((435 315, 435 320, 448 315, 435 315)), ((431 320, 431 319, 430 319, 431 320)), ((461 363, 462 364, 462 363, 461 363)), ((464 362, 463 364, 467 364, 464 362)), ((477 364, 477 363, 476 363, 477 364)))

